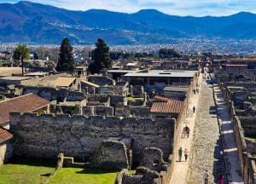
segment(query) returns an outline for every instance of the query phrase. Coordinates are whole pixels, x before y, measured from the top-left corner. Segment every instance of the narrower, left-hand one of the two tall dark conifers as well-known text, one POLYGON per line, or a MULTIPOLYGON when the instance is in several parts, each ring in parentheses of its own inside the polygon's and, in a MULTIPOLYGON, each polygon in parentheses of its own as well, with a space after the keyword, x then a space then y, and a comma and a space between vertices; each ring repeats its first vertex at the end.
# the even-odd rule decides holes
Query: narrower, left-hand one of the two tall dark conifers
POLYGON ((57 71, 73 72, 75 69, 75 61, 73 59, 73 47, 67 37, 61 42, 61 50, 59 60, 56 66, 57 71))

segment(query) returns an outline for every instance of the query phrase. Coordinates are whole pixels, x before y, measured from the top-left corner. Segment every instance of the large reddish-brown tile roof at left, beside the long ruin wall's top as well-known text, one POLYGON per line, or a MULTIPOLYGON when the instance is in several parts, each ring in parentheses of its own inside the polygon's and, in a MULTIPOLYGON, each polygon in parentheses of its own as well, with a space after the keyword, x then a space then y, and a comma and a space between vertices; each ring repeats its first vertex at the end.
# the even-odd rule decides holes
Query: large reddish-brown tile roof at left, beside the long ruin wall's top
POLYGON ((34 112, 49 105, 49 101, 33 94, 0 102, 0 124, 9 121, 9 112, 34 112))

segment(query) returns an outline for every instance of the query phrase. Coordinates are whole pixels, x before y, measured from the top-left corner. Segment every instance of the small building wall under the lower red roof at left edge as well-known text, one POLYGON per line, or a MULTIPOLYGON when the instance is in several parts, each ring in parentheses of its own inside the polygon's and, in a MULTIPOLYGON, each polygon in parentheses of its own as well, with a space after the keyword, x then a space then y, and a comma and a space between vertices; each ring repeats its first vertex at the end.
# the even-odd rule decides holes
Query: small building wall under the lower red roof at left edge
POLYGON ((0 165, 6 163, 13 156, 12 140, 0 143, 0 165))

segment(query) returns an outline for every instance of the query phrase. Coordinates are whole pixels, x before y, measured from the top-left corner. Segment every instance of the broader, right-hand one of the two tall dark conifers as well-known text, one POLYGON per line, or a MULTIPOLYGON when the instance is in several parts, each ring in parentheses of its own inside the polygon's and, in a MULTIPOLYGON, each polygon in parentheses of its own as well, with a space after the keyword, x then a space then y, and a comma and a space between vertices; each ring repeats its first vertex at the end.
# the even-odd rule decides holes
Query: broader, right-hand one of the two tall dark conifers
POLYGON ((112 67, 112 60, 109 57, 109 47, 102 38, 98 38, 96 49, 94 49, 92 54, 94 62, 89 66, 91 73, 98 73, 102 69, 109 69, 112 67))

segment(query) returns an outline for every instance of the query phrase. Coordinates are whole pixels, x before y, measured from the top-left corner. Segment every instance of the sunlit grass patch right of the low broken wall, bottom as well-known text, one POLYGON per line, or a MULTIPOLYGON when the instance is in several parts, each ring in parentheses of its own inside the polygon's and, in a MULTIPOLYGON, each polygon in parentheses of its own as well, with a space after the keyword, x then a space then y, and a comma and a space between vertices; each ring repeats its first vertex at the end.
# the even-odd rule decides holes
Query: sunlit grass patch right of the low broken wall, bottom
POLYGON ((49 184, 113 184, 116 172, 79 168, 62 168, 49 184))

